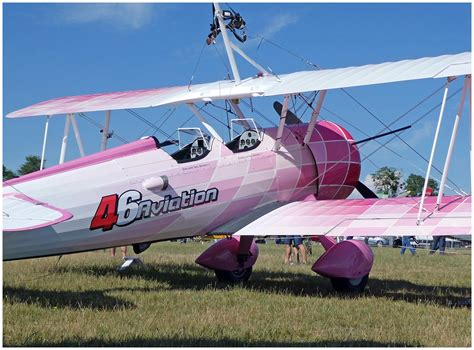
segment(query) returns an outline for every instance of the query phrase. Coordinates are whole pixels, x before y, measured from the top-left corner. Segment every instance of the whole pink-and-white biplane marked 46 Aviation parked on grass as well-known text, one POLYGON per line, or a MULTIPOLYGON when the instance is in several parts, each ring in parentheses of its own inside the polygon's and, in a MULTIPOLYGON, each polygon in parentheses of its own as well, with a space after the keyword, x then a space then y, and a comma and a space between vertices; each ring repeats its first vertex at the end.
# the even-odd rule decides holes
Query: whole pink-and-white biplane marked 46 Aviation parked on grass
MULTIPOLYGON (((317 237, 325 252, 312 270, 339 291, 362 291, 373 265, 363 242, 337 236, 470 235, 471 196, 445 196, 457 129, 471 89, 471 53, 408 59, 357 67, 275 75, 233 43, 228 31, 245 26, 240 15, 214 4, 207 39, 224 41, 233 79, 207 84, 62 97, 11 112, 8 118, 65 115, 58 165, 3 184, 3 259, 16 260, 151 243, 209 232, 232 234, 210 246, 196 262, 222 281, 250 277, 258 258, 256 236, 317 237), (239 75, 234 54, 257 74, 239 75), (341 125, 319 118, 329 90, 416 79, 444 79, 445 91, 420 197, 380 199, 359 179, 358 143, 341 125), (464 79, 461 100, 438 196, 426 196, 433 155, 450 83, 464 79), (292 96, 318 92, 309 123, 289 111, 292 96), (278 126, 261 128, 239 102, 280 96, 278 126), (228 142, 199 105, 228 101, 236 118, 228 142), (200 127, 180 128, 179 149, 144 137, 107 149, 113 111, 186 105, 200 127), (84 155, 75 116, 105 113, 101 151, 84 155), (82 157, 65 162, 70 125, 82 157), (347 199, 357 190, 363 199, 347 199)), ((468 98, 469 99, 469 98, 468 98)), ((47 128, 45 128, 46 144, 47 128)), ((385 134, 383 134, 385 135, 385 134)), ((378 136, 383 136, 378 135, 378 136)), ((471 133, 472 140, 472 133, 471 133)))

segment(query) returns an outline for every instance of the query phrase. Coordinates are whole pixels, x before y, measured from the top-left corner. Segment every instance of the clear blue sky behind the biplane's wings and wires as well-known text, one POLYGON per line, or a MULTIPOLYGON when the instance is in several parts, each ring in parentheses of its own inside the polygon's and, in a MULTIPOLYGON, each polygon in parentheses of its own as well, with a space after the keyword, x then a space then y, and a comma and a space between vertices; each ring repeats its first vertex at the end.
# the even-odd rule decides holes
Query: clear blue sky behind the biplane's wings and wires
MULTIPOLYGON (((248 4, 231 6, 247 22, 250 37, 261 35, 285 49, 324 68, 380 63, 471 50, 470 4, 248 4)), ((225 5, 223 5, 225 7, 225 5)), ((210 4, 4 4, 3 5, 3 115, 25 106, 60 96, 187 85, 193 74, 211 22, 210 4)), ((219 38, 220 39, 220 38, 219 38)), ((205 47, 194 83, 225 78, 227 70, 220 55, 222 44, 205 47), (219 54, 220 52, 220 54, 219 54)), ((249 39, 244 50, 275 73, 309 70, 311 67, 268 42, 249 39)), ((254 75, 253 67, 238 60, 241 76, 254 75)), ((442 80, 424 80, 348 91, 385 123, 442 86, 442 80)), ((462 85, 452 84, 454 92, 462 85)), ((442 92, 429 99, 393 127, 405 126, 441 101, 442 92)), ((274 98, 255 99, 255 107, 277 122, 274 98)), ((281 100, 281 99, 280 99, 281 100)), ((442 168, 459 94, 447 105, 435 164, 442 168)), ((373 135, 383 126, 340 90, 331 90, 325 106, 348 122, 373 135)), ((155 122, 168 107, 137 110, 155 122)), ((225 122, 225 114, 210 107, 225 122)), ((262 126, 270 124, 250 116, 262 126)), ((438 109, 402 134, 426 158, 436 126, 438 109)), ((103 113, 88 113, 102 123, 103 113)), ((188 117, 179 108, 166 123, 168 133, 188 117)), ((366 136, 327 111, 323 118, 345 126, 355 139, 366 136)), ((303 119, 307 121, 309 114, 303 119)), ((28 154, 40 154, 45 118, 3 118, 3 162, 17 169, 28 154)), ((223 135, 226 129, 210 119, 223 135)), ((98 130, 78 118, 86 153, 98 151, 98 130)), ((191 119, 186 126, 199 126, 191 119)), ((63 117, 50 123, 47 166, 59 159, 63 117)), ((147 129, 125 112, 112 113, 112 129, 135 140, 147 129)), ((450 168, 450 178, 470 192, 469 117, 467 105, 450 168)), ((151 132, 147 132, 150 134, 151 132)), ((157 134, 160 139, 164 137, 157 134)), ((121 143, 112 139, 110 146, 121 143)), ((401 141, 389 144, 404 156, 400 159, 380 150, 363 163, 362 179, 376 166, 393 166, 407 176, 424 175, 426 163, 401 141), (416 164, 413 166, 412 163, 416 164), (421 171, 419 168, 423 169, 421 171)), ((369 143, 361 151, 378 147, 369 143)), ((66 159, 79 156, 71 130, 66 159)), ((435 173, 438 176, 438 174, 435 173)), ((448 192, 449 193, 449 192, 448 192)))

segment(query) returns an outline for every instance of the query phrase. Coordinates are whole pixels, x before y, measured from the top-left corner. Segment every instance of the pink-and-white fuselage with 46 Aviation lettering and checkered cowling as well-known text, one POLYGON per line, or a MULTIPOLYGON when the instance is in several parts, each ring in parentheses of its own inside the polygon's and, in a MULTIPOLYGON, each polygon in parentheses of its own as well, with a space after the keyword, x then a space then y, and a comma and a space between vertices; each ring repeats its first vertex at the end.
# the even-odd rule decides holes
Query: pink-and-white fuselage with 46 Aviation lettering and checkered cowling
POLYGON ((278 151, 276 128, 243 152, 214 139, 207 156, 185 163, 147 138, 6 181, 4 196, 22 193, 72 217, 4 231, 4 260, 189 237, 276 202, 347 198, 360 175, 352 137, 320 122, 303 145, 306 129, 285 127, 278 151))

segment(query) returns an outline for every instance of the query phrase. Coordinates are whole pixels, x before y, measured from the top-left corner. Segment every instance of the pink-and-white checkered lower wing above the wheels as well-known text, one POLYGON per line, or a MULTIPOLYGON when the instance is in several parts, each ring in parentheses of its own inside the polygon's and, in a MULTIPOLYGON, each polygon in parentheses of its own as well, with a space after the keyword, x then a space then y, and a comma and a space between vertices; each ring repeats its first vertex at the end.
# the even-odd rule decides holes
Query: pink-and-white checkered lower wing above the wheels
POLYGON ((294 202, 236 232, 236 235, 403 236, 470 235, 471 196, 425 199, 420 225, 420 198, 340 199, 294 202))

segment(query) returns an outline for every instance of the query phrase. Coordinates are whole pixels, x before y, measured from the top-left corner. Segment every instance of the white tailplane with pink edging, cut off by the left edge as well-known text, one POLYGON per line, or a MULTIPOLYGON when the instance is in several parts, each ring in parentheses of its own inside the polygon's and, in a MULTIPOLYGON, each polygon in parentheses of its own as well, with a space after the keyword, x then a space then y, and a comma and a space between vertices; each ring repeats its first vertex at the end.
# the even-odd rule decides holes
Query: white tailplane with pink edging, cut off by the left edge
POLYGON ((55 208, 21 193, 3 195, 3 231, 25 231, 51 226, 72 217, 66 210, 55 208))

